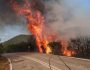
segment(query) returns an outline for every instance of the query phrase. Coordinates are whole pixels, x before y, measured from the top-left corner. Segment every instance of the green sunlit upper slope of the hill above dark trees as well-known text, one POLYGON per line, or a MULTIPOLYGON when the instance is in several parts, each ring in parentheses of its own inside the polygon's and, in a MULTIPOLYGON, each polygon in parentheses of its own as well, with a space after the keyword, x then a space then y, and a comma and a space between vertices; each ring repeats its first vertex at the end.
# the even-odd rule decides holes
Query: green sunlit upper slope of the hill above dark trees
POLYGON ((32 35, 18 35, 8 41, 3 42, 4 46, 12 45, 12 44, 18 44, 21 42, 27 42, 29 39, 33 39, 32 35))

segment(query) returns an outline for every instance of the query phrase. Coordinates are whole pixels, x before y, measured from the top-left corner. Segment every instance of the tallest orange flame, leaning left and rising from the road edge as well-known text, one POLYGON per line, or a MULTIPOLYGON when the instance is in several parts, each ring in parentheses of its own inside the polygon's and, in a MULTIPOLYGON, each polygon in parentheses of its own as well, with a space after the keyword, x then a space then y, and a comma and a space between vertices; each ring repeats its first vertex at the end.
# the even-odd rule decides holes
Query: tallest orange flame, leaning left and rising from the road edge
POLYGON ((43 47, 47 54, 50 53, 51 49, 48 46, 48 39, 42 34, 45 22, 41 12, 39 10, 33 11, 28 0, 24 0, 23 6, 20 6, 20 4, 14 0, 12 7, 17 14, 23 15, 26 18, 28 30, 36 37, 39 52, 43 52, 43 47))

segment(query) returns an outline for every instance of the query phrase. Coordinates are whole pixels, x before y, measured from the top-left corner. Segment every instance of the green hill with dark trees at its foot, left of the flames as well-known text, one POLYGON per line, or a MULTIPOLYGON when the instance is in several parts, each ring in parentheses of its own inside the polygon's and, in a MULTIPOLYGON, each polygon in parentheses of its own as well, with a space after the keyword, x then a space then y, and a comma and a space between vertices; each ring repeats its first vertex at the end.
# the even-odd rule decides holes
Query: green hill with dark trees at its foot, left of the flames
POLYGON ((19 35, 3 43, 5 52, 37 51, 32 35, 19 35))

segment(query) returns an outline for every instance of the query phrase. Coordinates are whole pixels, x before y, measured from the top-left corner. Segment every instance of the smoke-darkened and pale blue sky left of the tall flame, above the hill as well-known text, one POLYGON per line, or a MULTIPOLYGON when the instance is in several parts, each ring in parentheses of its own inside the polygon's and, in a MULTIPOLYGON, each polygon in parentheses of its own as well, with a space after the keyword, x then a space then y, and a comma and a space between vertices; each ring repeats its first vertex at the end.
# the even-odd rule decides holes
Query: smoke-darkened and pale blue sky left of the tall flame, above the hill
POLYGON ((25 20, 12 11, 10 0, 0 0, 1 41, 6 41, 19 34, 28 34, 25 20))

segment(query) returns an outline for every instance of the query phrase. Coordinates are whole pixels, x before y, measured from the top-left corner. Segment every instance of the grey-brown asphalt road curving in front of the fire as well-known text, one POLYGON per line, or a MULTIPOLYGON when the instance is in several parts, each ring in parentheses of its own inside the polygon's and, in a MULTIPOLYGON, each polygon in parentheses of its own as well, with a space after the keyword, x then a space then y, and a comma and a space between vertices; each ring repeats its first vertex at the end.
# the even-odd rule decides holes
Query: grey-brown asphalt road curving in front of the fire
POLYGON ((38 53, 9 53, 13 70, 90 70, 90 60, 38 53))

